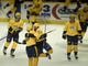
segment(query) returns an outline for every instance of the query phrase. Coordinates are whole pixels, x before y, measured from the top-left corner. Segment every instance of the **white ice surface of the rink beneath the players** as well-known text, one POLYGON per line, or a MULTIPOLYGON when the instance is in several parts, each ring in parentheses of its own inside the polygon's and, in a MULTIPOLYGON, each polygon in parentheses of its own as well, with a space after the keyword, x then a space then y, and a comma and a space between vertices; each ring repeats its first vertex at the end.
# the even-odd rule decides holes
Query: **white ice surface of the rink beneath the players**
MULTIPOLYGON (((25 24, 26 25, 26 24, 25 24)), ((24 25, 24 29, 25 29, 24 25)), ((42 25, 44 29, 45 26, 42 25)), ((40 57, 38 66, 88 66, 88 32, 84 38, 84 43, 79 44, 79 59, 74 58, 72 54, 72 62, 66 59, 66 41, 62 38, 63 25, 47 25, 46 32, 56 29, 56 31, 47 35, 47 42, 52 45, 54 53, 52 54, 52 59, 46 57, 40 57)), ((20 41, 24 38, 25 30, 20 33, 20 41)), ((7 35, 7 23, 0 23, 0 37, 7 35)), ((6 40, 0 41, 0 66, 28 66, 28 57, 25 53, 24 45, 18 45, 15 51, 15 57, 10 57, 10 48, 8 50, 8 55, 2 54, 2 47, 6 40)))

